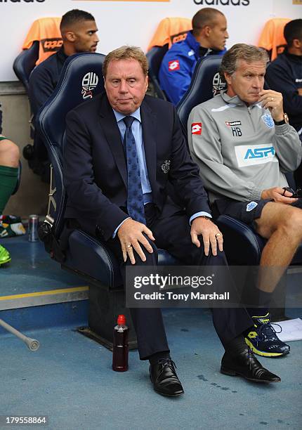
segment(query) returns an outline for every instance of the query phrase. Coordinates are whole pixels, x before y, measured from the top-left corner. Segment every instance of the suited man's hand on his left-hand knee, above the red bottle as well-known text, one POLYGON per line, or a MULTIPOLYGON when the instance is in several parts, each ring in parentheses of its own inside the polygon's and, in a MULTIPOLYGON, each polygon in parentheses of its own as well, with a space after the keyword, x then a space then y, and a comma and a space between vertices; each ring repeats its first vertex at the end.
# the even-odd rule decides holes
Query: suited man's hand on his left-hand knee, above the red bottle
POLYGON ((126 221, 122 223, 122 226, 119 227, 117 235, 119 237, 119 242, 121 242, 124 261, 126 261, 127 256, 129 256, 131 263, 136 263, 133 248, 140 256, 140 259, 142 261, 146 261, 145 254, 140 245, 143 245, 147 252, 152 254, 152 246, 147 241, 143 233, 145 233, 151 240, 155 240, 152 231, 147 228, 145 224, 138 223, 138 221, 134 221, 133 219, 126 219, 126 221))

